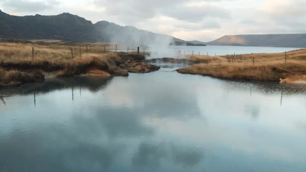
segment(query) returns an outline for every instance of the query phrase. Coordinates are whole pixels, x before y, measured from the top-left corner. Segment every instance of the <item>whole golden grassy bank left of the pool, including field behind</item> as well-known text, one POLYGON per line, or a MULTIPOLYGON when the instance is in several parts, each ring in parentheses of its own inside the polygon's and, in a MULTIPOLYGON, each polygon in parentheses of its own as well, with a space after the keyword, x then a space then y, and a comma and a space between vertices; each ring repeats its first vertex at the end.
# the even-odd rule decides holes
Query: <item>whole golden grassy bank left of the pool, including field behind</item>
POLYGON ((80 51, 79 47, 73 46, 0 43, 0 62, 4 60, 0 87, 43 80, 43 73, 53 73, 57 77, 81 74, 128 76, 128 72, 147 73, 159 69, 144 64, 144 59, 144 54, 104 51, 104 47, 91 50, 81 47, 80 51))

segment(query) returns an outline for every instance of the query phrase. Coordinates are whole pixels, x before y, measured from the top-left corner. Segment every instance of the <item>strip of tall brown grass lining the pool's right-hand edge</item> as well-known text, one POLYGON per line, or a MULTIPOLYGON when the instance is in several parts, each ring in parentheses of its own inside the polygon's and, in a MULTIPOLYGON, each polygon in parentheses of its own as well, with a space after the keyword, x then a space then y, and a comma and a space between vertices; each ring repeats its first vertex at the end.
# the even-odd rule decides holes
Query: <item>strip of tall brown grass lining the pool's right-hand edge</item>
POLYGON ((257 81, 280 81, 294 75, 306 73, 306 62, 290 60, 285 62, 264 63, 211 63, 195 64, 186 69, 178 69, 179 73, 200 74, 216 78, 243 79, 257 81))

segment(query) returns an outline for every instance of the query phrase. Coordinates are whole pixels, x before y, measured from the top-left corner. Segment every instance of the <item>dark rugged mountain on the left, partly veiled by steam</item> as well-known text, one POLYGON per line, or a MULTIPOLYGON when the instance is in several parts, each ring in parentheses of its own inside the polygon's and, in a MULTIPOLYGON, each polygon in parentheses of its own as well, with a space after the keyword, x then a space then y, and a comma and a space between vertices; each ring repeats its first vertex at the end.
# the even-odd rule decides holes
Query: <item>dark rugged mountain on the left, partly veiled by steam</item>
POLYGON ((169 44, 182 41, 173 36, 120 26, 108 21, 95 24, 70 13, 53 16, 13 16, 0 10, 0 38, 7 39, 56 39, 75 42, 116 42, 118 44, 147 45, 169 44))

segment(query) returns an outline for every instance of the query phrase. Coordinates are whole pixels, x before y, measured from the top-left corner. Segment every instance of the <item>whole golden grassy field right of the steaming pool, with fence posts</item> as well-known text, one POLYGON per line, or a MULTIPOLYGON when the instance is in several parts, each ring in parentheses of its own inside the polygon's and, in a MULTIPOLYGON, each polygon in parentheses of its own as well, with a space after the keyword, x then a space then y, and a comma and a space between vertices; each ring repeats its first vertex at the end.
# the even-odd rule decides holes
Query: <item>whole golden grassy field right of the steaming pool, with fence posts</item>
POLYGON ((203 63, 177 72, 224 79, 306 83, 306 49, 287 52, 286 63, 285 53, 239 54, 234 57, 229 63, 228 56, 187 55, 187 59, 203 63))

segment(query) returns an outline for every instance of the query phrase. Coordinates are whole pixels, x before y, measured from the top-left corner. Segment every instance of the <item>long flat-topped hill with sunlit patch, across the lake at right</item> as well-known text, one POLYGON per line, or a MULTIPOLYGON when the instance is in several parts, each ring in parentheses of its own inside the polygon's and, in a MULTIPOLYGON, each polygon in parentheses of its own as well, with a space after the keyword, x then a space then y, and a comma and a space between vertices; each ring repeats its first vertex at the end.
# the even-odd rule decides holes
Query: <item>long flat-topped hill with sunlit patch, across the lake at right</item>
POLYGON ((306 48, 306 34, 226 35, 206 44, 306 48))

